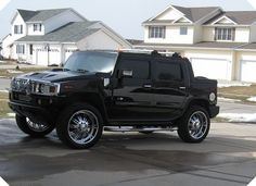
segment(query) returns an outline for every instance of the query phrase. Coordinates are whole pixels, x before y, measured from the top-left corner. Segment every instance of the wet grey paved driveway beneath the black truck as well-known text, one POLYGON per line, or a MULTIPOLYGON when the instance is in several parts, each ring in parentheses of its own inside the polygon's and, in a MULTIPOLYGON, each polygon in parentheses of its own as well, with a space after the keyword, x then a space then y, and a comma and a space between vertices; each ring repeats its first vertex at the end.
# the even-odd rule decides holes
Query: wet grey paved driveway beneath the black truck
POLYGON ((202 144, 176 133, 105 133, 89 150, 63 146, 0 121, 0 175, 12 186, 244 186, 256 176, 256 125, 213 124, 202 144))

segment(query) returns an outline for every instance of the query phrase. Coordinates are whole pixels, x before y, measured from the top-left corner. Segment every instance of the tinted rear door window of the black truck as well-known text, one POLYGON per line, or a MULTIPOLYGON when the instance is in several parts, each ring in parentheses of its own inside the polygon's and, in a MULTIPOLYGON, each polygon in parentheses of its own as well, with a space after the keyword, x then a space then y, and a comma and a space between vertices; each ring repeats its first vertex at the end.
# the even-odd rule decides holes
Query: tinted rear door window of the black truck
POLYGON ((181 80, 181 66, 170 61, 158 61, 156 77, 159 80, 181 80))

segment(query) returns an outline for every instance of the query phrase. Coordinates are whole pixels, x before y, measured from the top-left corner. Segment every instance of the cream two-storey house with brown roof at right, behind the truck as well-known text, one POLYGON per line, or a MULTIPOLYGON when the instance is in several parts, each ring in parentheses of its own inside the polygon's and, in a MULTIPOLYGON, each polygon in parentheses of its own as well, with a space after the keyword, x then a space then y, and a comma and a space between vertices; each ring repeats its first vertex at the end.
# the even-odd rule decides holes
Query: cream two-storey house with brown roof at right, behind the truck
POLYGON ((142 25, 135 48, 179 52, 196 76, 256 83, 256 11, 169 5, 142 25))

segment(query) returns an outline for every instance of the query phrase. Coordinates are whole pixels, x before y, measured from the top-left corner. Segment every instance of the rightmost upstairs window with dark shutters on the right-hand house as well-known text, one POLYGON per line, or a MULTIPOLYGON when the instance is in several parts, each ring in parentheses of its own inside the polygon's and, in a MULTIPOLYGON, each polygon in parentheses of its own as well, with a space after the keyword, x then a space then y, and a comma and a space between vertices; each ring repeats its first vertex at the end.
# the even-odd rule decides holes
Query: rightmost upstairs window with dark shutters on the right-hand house
POLYGON ((215 40, 234 40, 235 28, 215 28, 215 40))

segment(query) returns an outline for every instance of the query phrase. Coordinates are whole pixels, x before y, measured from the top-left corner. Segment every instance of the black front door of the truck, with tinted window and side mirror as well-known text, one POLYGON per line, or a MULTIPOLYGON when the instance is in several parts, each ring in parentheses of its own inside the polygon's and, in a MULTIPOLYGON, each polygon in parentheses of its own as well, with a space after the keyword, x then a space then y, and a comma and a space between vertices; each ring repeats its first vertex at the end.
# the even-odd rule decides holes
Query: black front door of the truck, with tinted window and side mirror
POLYGON ((152 117, 151 62, 149 58, 120 57, 113 79, 113 121, 148 121, 152 117), (128 73, 127 73, 128 72, 128 73))

